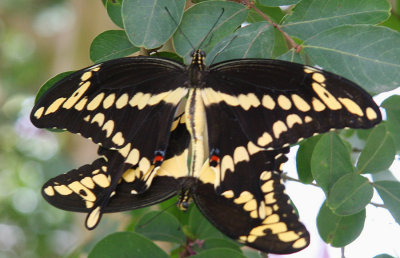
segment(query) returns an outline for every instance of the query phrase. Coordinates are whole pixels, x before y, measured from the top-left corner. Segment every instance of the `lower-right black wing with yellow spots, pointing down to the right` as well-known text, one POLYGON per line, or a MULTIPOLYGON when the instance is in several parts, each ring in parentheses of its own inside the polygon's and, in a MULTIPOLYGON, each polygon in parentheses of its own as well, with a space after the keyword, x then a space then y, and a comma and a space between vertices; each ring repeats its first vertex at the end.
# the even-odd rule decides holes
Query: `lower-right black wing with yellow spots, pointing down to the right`
POLYGON ((309 233, 298 220, 281 183, 280 165, 287 158, 279 151, 261 151, 251 161, 235 164, 218 194, 205 165, 194 190, 194 200, 204 216, 227 236, 268 253, 293 253, 309 244, 309 233), (206 176, 208 174, 208 176, 206 176))

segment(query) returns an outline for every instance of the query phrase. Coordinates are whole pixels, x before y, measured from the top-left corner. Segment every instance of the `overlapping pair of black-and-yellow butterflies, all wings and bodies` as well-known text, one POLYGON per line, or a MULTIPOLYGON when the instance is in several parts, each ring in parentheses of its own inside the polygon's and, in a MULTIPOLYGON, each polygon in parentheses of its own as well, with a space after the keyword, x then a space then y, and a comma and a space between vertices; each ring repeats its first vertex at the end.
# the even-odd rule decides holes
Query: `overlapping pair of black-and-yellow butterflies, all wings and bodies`
POLYGON ((99 145, 92 164, 50 179, 52 205, 103 213, 179 195, 221 232, 268 253, 293 253, 310 237, 284 192, 281 166, 295 144, 331 129, 381 121, 372 97, 338 75, 270 59, 185 66, 127 57, 79 70, 46 91, 31 121, 99 145), (190 161, 188 164, 188 160, 190 161))

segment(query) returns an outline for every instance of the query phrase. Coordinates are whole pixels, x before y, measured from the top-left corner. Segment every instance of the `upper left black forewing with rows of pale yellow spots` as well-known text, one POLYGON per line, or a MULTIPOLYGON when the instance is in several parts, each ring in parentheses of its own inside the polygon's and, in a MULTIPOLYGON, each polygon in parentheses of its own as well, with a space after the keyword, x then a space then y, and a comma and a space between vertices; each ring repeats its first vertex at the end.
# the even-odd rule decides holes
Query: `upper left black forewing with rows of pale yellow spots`
POLYGON ((107 61, 56 83, 35 104, 31 121, 39 128, 66 129, 105 148, 119 149, 132 143, 140 130, 148 130, 151 119, 158 119, 158 127, 168 131, 186 95, 185 81, 184 67, 174 61, 151 57, 107 61), (162 119, 156 115, 159 112, 162 119))

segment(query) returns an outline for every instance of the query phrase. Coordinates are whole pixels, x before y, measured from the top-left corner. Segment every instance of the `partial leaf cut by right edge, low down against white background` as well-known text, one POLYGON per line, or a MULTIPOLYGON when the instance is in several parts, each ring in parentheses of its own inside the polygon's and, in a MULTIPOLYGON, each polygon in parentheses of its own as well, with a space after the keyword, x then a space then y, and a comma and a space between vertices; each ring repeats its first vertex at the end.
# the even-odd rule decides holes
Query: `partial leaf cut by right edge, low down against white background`
POLYGON ((400 224, 400 182, 377 181, 373 183, 373 186, 378 191, 385 207, 400 224))

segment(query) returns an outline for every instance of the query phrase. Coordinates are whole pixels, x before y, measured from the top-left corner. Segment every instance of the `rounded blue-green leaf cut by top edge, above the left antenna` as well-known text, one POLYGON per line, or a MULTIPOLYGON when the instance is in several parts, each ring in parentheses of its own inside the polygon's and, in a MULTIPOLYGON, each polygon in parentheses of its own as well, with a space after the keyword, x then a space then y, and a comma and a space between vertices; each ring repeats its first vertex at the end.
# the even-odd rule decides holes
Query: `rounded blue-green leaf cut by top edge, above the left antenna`
POLYGON ((185 0, 124 0, 122 20, 129 40, 147 49, 161 46, 178 27, 184 7, 185 0))

